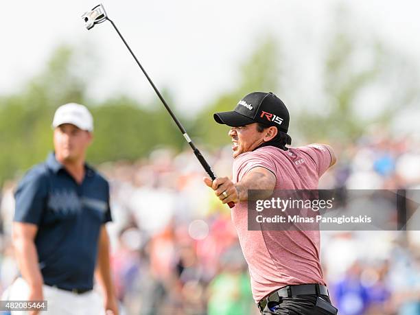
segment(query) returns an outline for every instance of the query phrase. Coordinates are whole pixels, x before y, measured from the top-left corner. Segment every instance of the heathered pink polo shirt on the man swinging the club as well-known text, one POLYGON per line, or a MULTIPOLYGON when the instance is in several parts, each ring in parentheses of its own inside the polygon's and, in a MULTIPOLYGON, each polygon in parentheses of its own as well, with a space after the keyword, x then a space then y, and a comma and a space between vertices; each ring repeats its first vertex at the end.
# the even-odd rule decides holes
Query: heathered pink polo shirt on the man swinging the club
MULTIPOLYGON (((275 189, 318 189, 318 180, 330 163, 331 154, 324 145, 288 151, 266 146, 237 156, 233 182, 239 182, 254 167, 265 167, 277 178, 275 189)), ((325 285, 319 231, 248 231, 247 202, 233 208, 232 220, 248 263, 256 302, 285 285, 325 285)))

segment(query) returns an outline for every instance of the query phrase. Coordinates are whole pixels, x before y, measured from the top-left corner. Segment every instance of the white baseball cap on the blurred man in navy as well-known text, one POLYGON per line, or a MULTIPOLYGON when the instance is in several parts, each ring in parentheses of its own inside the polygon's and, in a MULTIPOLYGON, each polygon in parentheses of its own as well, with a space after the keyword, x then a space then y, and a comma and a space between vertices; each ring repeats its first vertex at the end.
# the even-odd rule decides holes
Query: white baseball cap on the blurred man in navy
POLYGON ((54 114, 53 127, 72 124, 82 130, 93 131, 93 117, 86 106, 69 103, 57 108, 54 114))

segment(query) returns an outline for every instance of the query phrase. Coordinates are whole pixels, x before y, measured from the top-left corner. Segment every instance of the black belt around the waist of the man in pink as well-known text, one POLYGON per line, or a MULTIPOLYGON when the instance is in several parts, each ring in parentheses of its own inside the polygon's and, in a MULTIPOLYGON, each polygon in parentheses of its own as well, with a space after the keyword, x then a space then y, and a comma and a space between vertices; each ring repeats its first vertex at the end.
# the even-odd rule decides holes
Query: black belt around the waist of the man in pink
POLYGON ((283 297, 292 297, 296 295, 325 295, 329 297, 328 289, 325 285, 320 284, 299 284, 299 285, 288 285, 279 290, 272 292, 265 299, 262 299, 258 303, 258 308, 263 312, 268 302, 280 302, 283 297))

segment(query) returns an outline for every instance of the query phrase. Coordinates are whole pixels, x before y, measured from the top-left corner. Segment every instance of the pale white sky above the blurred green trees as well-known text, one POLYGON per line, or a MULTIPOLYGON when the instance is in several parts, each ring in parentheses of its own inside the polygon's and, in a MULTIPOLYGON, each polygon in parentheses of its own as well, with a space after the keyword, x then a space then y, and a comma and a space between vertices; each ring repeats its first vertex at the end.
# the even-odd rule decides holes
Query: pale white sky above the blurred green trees
MULTIPOLYGON (((96 1, 3 1, 0 10, 0 94, 19 91, 42 71, 54 48, 70 44, 91 51, 99 69, 86 90, 97 101, 126 94, 141 102, 154 95, 109 22, 88 31, 80 16, 96 1)), ((317 56, 344 5, 359 34, 377 34, 417 62, 420 3, 380 0, 154 0, 102 1, 159 89, 169 89, 177 108, 196 110, 237 86, 239 67, 271 34, 307 73, 308 93, 317 82, 317 56), (306 67, 307 65, 307 67, 306 67)), ((287 59, 287 58, 286 58, 287 59)), ((417 66, 419 64, 417 63, 417 66)), ((83 73, 89 67, 78 65, 83 73)), ((286 73, 287 75, 287 73, 286 73)), ((290 91, 288 97, 292 99, 290 91)), ((314 92, 316 93, 316 92, 314 92)))

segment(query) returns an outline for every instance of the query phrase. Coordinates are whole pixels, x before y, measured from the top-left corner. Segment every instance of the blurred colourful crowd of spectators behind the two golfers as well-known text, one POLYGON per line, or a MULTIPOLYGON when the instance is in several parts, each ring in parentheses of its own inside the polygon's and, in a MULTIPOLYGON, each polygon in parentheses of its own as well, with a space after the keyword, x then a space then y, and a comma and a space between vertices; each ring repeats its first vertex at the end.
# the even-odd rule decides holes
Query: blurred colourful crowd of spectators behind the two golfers
MULTIPOLYGON (((320 188, 420 187, 419 139, 373 132, 331 145, 338 164, 320 188)), ((216 174, 231 174, 230 148, 203 154, 216 174)), ((98 168, 111 184, 108 231, 121 314, 259 314, 229 207, 202 183, 194 154, 162 148, 136 163, 98 168)), ((10 244, 15 185, 5 183, 1 194, 1 291, 18 272, 10 244)), ((325 279, 339 314, 420 314, 420 233, 409 230, 321 232, 325 279)))

